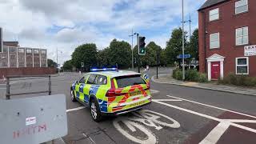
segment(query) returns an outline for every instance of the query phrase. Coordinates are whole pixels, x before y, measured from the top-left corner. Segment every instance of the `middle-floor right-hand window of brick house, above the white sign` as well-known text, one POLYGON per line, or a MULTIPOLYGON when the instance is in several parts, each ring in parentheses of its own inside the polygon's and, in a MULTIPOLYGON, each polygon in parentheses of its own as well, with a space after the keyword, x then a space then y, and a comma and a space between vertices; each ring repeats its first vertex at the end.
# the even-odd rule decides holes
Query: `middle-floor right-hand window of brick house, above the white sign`
POLYGON ((238 28, 235 30, 236 45, 246 45, 249 42, 248 38, 248 26, 238 28))

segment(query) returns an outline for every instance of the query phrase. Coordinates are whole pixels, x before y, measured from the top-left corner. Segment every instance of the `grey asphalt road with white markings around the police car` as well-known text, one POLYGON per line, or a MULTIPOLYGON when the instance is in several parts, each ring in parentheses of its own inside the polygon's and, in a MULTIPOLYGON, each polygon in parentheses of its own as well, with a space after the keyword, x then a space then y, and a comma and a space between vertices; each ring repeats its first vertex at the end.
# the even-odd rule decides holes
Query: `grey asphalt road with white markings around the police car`
MULTIPOLYGON (((161 69, 159 73, 170 71, 161 69)), ((150 70, 150 76, 154 74, 155 70, 150 70)), ((254 96, 151 82, 154 94, 150 106, 94 122, 88 108, 70 100, 70 85, 79 77, 66 73, 52 78, 53 94, 66 94, 66 143, 256 143, 254 96)), ((46 82, 15 82, 11 92, 45 89, 46 82)), ((4 90, 0 85, 0 94, 4 90)))

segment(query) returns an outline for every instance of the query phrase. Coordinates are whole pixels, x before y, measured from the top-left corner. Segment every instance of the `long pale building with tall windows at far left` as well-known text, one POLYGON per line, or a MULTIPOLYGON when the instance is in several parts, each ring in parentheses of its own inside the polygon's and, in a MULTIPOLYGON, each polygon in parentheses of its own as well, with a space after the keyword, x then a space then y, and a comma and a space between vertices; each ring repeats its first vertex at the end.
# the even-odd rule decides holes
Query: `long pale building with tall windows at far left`
POLYGON ((47 50, 3 46, 0 68, 47 67, 47 50))

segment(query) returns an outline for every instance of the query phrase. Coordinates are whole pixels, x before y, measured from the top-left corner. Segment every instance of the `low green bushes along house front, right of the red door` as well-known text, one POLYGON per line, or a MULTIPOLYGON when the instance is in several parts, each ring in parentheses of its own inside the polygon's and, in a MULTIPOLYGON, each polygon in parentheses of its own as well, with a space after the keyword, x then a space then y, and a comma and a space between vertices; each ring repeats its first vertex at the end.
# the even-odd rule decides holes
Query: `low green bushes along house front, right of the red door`
POLYGON ((223 79, 219 78, 218 83, 235 86, 256 86, 256 78, 251 78, 247 75, 236 75, 230 73, 223 79))

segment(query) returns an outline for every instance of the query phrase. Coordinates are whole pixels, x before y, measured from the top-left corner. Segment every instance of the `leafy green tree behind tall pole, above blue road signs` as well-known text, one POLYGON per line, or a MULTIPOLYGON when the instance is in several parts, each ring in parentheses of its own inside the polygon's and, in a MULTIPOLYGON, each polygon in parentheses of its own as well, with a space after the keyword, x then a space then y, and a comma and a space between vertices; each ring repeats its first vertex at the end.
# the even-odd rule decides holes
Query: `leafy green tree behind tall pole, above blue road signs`
MULTIPOLYGON (((186 40, 185 32, 185 54, 188 42, 186 40)), ((166 43, 166 61, 168 64, 173 65, 174 62, 179 61, 178 54, 182 54, 182 28, 174 29, 170 40, 166 43)))

